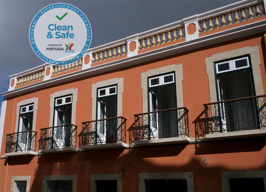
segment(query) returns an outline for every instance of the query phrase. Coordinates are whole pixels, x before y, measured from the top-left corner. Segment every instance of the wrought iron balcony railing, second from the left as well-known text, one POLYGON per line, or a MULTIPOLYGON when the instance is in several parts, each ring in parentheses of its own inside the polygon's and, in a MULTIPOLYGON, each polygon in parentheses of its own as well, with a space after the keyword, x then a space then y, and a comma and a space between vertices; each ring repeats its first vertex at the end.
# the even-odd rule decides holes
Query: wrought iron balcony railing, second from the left
POLYGON ((41 130, 39 149, 74 147, 77 144, 77 126, 74 124, 59 125, 41 130))

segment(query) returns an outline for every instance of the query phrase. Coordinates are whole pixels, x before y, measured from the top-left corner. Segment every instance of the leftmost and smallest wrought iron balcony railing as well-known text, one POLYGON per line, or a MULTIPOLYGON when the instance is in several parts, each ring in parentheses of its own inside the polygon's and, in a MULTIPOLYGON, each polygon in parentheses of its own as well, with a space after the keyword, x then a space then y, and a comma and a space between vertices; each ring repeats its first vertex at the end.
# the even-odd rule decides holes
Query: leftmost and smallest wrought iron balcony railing
POLYGON ((6 153, 35 151, 36 150, 35 131, 23 131, 6 134, 6 153))

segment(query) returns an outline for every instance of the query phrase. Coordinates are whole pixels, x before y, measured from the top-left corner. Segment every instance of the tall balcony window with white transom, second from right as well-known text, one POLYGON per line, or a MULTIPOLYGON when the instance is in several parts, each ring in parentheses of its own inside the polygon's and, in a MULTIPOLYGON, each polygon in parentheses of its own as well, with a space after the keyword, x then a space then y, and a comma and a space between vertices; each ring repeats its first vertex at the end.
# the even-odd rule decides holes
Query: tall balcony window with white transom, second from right
MULTIPOLYGON (((174 73, 148 77, 149 112, 177 107, 174 73)), ((149 114, 149 139, 177 136, 174 111, 161 111, 149 114)))

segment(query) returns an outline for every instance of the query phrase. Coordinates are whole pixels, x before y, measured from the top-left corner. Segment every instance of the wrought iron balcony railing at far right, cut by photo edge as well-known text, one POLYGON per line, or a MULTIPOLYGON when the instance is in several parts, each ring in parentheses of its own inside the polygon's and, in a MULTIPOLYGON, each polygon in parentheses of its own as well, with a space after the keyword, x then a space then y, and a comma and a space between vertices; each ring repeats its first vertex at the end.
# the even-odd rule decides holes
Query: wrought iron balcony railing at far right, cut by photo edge
POLYGON ((203 104, 206 133, 266 127, 266 95, 203 104))

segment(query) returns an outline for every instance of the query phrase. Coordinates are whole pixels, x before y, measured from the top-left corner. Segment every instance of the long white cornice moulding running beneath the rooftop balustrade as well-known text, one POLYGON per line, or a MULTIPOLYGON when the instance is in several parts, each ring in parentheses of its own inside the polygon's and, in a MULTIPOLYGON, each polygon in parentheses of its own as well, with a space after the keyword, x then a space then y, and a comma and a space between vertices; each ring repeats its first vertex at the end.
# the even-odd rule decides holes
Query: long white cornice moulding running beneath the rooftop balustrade
POLYGON ((150 60, 166 57, 169 55, 174 55, 182 53, 188 50, 198 49, 200 47, 205 47, 220 42, 225 42, 229 40, 238 39, 241 37, 250 36, 252 34, 257 34, 265 31, 266 19, 250 23, 248 25, 242 25, 236 28, 227 29, 218 33, 209 34, 203 37, 191 41, 180 42, 167 47, 162 47, 160 49, 155 49, 148 51, 130 58, 124 58, 120 60, 115 60, 113 62, 104 63, 98 66, 94 66, 88 69, 76 71, 73 73, 58 76, 47 81, 40 81, 35 84, 23 86, 21 88, 6 91, 2 95, 6 98, 13 97, 19 94, 27 93, 28 91, 34 91, 36 89, 44 88, 51 85, 56 85, 60 83, 65 83, 66 81, 76 80, 83 77, 88 77, 98 73, 103 73, 107 71, 112 71, 115 69, 120 69, 122 67, 128 67, 135 64, 147 62, 150 60))

